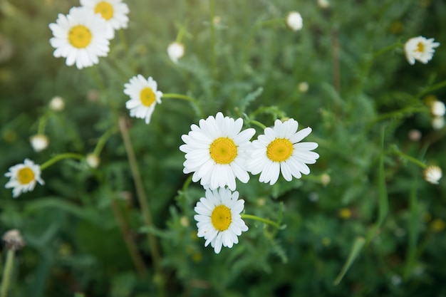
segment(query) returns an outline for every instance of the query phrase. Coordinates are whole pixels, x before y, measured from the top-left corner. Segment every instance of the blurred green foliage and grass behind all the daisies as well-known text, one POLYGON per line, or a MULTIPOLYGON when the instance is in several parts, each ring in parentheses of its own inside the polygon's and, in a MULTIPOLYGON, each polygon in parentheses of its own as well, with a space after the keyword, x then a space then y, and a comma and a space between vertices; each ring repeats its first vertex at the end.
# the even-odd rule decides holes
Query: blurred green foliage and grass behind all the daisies
POLYGON ((63 160, 31 193, 13 199, 0 187, 0 233, 19 229, 27 243, 9 296, 162 296, 160 283, 167 296, 446 296, 446 183, 428 184, 392 150, 446 168, 446 131, 432 129, 426 104, 446 95, 445 1, 331 0, 322 9, 316 0, 216 0, 214 16, 212 0, 125 2, 129 27, 108 57, 78 70, 54 58, 48 42, 48 24, 78 1, 0 0, 0 172, 25 158, 42 164, 92 152, 118 116, 128 117, 123 85, 137 74, 152 76, 163 93, 196 98, 204 118, 250 118, 264 107, 256 120, 267 126, 282 114, 294 118, 313 128, 308 141, 319 143, 321 157, 303 179, 237 182, 247 213, 281 219, 286 229, 247 221, 239 244, 216 255, 196 236, 193 207, 203 189, 182 191, 178 147, 199 117, 185 101, 162 100, 150 125, 128 118, 156 227, 142 228, 119 132, 97 169, 63 160), (301 31, 286 27, 289 11, 302 15, 301 31), (186 52, 174 64, 166 48, 181 28, 186 52), (373 56, 415 36, 441 43, 427 65, 410 66, 402 46, 373 56), (66 100, 58 113, 48 109, 56 95, 66 100), (50 143, 37 153, 29 137, 43 115, 50 143), (408 138, 414 129, 418 141, 408 138), (130 259, 123 224, 145 276, 130 259), (146 232, 160 244, 162 274, 146 232), (358 236, 370 240, 335 286, 358 236))

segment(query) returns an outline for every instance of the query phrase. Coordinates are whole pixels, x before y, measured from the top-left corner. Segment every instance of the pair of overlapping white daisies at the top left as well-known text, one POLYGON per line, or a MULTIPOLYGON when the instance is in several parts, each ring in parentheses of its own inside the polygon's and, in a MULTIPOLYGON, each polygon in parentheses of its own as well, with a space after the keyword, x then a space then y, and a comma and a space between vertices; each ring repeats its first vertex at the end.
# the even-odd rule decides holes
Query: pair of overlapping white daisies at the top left
POLYGON ((59 14, 49 27, 56 58, 66 58, 66 65, 81 69, 99 63, 110 51, 115 30, 127 28, 129 9, 121 0, 81 0, 67 15, 59 14))

